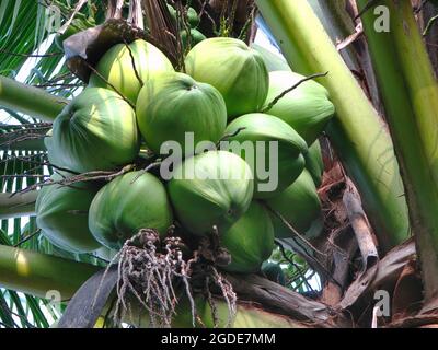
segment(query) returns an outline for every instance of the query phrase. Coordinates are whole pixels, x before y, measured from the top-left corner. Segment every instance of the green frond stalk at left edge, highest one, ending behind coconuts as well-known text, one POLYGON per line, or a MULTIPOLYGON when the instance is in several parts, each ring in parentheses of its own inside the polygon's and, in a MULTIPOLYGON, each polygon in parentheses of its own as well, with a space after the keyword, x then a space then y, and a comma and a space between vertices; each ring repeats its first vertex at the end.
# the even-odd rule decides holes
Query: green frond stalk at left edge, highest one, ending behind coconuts
POLYGON ((2 107, 53 121, 67 104, 66 98, 0 75, 0 106, 2 107))

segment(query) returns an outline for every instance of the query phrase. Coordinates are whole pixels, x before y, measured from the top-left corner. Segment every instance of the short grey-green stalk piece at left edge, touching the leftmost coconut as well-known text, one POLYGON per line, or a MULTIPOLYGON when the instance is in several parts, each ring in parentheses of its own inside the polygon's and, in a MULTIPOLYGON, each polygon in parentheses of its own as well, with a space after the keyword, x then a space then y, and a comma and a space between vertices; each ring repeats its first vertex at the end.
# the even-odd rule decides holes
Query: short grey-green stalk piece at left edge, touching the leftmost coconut
POLYGON ((0 220, 35 214, 36 190, 12 197, 11 195, 8 192, 0 194, 0 220))

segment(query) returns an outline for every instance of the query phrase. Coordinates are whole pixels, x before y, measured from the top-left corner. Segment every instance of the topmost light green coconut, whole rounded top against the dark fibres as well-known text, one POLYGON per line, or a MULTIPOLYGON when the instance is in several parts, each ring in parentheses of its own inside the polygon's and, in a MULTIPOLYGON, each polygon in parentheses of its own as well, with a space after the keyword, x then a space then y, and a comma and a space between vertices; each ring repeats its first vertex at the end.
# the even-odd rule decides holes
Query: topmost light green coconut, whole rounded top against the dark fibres
POLYGON ((261 54, 229 37, 200 42, 185 59, 186 72, 222 94, 229 117, 257 112, 266 101, 269 78, 261 54))

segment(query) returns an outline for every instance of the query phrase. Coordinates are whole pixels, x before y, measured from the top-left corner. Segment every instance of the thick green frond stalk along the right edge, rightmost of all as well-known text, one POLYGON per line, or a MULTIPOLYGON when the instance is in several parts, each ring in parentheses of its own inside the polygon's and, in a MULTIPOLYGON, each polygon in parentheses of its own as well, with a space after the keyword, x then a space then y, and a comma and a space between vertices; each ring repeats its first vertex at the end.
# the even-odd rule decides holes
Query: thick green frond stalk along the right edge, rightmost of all
MULTIPOLYGON (((358 0, 360 9, 368 1, 358 0)), ((385 0, 390 31, 362 15, 385 116, 406 189, 426 301, 438 296, 438 84, 408 1, 385 0)))

